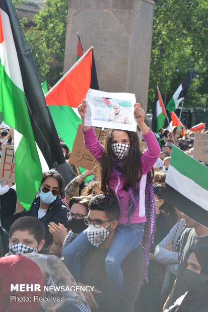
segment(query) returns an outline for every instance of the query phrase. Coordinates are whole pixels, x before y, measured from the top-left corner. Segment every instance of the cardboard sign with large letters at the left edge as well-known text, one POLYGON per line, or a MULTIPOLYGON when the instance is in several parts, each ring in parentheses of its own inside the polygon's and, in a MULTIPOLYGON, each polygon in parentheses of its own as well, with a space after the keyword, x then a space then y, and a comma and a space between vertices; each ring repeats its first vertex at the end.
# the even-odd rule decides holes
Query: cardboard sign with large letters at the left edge
POLYGON ((15 183, 15 151, 13 145, 3 145, 0 180, 15 183))

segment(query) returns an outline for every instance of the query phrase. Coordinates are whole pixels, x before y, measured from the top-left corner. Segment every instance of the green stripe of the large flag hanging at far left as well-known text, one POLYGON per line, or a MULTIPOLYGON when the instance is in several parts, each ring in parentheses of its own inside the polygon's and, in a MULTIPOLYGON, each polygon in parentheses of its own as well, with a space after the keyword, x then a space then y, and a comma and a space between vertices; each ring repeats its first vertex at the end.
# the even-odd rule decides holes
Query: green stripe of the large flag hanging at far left
POLYGON ((25 94, 10 79, 0 60, 0 111, 4 121, 23 137, 15 152, 15 179, 20 203, 29 209, 42 180, 42 169, 26 106, 25 94), (27 173, 28 170, 28 173, 27 173), (22 173, 24 172, 24 178, 22 173))

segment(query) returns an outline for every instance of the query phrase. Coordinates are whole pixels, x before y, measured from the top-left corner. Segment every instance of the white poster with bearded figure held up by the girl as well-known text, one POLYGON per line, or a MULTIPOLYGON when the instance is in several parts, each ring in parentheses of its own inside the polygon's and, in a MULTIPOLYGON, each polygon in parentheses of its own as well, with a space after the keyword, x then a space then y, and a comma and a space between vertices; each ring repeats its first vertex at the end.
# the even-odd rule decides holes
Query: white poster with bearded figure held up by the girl
POLYGON ((86 100, 85 126, 136 131, 134 94, 89 89, 86 100))

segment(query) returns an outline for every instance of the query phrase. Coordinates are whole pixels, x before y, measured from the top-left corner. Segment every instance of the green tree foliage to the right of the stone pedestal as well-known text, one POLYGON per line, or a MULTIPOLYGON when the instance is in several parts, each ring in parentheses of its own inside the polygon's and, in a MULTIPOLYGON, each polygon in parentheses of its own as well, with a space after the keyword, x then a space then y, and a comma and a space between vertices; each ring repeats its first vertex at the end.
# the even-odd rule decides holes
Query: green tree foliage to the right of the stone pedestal
POLYGON ((185 97, 186 107, 204 107, 208 93, 207 0, 160 0, 155 6, 149 85, 149 109, 156 85, 167 102, 188 68, 197 77, 185 97))

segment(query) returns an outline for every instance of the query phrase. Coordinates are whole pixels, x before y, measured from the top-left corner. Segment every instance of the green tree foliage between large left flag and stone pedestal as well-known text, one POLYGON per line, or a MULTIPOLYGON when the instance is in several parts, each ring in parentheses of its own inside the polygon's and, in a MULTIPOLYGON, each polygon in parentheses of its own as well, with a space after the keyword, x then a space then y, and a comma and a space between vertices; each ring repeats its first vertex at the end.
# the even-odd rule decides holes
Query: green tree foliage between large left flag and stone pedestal
MULTIPOLYGON (((13 0, 17 7, 24 3, 13 0)), ((35 15, 36 26, 25 31, 41 81, 52 87, 63 73, 68 0, 46 0, 44 8, 35 15)), ((22 27, 27 19, 20 21, 22 27)))

